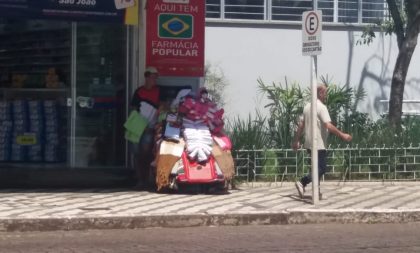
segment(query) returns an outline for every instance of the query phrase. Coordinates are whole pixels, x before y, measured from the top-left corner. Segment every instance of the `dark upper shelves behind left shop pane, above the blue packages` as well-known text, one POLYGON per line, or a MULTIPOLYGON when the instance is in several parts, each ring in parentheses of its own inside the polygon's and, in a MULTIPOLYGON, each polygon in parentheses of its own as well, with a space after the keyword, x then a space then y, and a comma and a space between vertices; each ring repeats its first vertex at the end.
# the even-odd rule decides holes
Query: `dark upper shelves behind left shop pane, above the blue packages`
POLYGON ((1 24, 0 88, 64 88, 70 80, 70 63, 69 24, 1 24))

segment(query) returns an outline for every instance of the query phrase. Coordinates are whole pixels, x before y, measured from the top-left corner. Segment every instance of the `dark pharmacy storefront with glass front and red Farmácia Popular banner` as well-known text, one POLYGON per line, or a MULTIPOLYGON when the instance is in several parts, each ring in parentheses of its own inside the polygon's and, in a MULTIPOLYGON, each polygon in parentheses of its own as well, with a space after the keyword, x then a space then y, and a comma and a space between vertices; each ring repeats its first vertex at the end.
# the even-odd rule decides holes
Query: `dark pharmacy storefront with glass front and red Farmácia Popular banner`
POLYGON ((202 85, 204 13, 201 1, 0 0, 0 168, 131 171, 123 125, 142 70, 159 69, 168 98, 202 85))

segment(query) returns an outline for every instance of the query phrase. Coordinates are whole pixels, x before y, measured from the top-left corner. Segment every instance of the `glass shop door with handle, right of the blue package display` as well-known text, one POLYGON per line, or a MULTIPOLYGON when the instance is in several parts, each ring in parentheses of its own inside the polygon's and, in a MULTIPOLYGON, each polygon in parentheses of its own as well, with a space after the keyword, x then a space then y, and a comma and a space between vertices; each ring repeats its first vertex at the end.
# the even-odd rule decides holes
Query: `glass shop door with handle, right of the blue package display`
POLYGON ((124 167, 127 28, 73 23, 70 167, 124 167))

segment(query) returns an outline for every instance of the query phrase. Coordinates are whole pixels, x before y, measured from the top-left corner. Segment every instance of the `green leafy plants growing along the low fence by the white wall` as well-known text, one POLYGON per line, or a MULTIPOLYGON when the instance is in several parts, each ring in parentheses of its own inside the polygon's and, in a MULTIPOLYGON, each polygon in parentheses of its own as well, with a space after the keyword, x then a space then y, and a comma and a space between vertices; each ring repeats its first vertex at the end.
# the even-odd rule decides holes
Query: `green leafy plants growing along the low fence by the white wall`
MULTIPOLYGON (((351 146, 356 147, 353 149, 354 152, 359 152, 351 155, 347 151, 343 152, 346 149, 337 151, 335 148, 338 145, 343 147, 343 141, 334 135, 330 136, 331 151, 335 155, 330 157, 329 165, 335 167, 336 174, 329 176, 336 179, 341 179, 344 176, 349 177, 349 170, 352 170, 349 167, 350 163, 364 163, 360 167, 360 173, 356 173, 358 175, 356 177, 370 176, 377 179, 391 177, 392 173, 386 169, 383 170, 383 168, 396 164, 395 154, 401 150, 408 153, 415 152, 404 147, 420 145, 420 135, 418 134, 420 132, 420 117, 403 117, 401 130, 395 132, 385 117, 372 121, 367 113, 357 111, 358 102, 366 96, 363 89, 353 90, 340 87, 328 77, 322 77, 321 80, 329 88, 326 103, 332 120, 340 129, 353 136, 351 146), (378 149, 380 155, 377 153, 378 149), (360 152, 363 154, 361 155, 360 152), (362 158, 357 158, 358 156, 362 156, 362 158), (363 157, 374 157, 378 160, 374 164, 369 164, 363 161, 368 158, 363 157), (357 160, 355 160, 356 158, 357 160), (378 166, 383 167, 381 171, 378 171, 378 166)), ((303 171, 300 171, 300 168, 304 170, 307 168, 304 165, 304 152, 297 154, 298 164, 296 165, 288 164, 289 161, 282 154, 293 152, 289 149, 289 145, 293 138, 296 120, 302 114, 304 103, 309 100, 310 89, 302 90, 297 83, 289 84, 287 80, 283 84, 266 85, 259 79, 258 84, 260 91, 266 94, 269 100, 269 103, 265 105, 265 108, 269 110, 268 116, 263 117, 261 113, 257 112, 254 118, 251 115, 246 120, 238 117, 227 124, 229 135, 234 144, 233 153, 236 161, 239 161, 238 167, 241 168, 241 176, 246 176, 248 180, 253 178, 254 180, 272 181, 281 176, 285 166, 297 166, 296 171, 301 174, 303 171), (240 149, 242 149, 241 152, 235 152, 240 149), (282 151, 278 152, 274 149, 282 149, 282 151)), ((412 155, 418 156, 418 154, 412 155)), ((405 162, 399 161, 398 163, 405 162)), ((351 179, 356 179, 355 175, 351 179)))

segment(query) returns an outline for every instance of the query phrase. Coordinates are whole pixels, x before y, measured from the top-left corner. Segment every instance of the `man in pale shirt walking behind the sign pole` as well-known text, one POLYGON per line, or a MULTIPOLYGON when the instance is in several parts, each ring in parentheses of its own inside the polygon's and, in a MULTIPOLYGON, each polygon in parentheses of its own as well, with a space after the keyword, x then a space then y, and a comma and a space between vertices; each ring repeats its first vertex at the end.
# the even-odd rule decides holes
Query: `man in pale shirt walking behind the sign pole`
MULTIPOLYGON (((331 123, 331 117, 328 112, 327 107, 325 106, 325 101, 327 99, 327 86, 324 84, 319 84, 317 87, 317 124, 315 126, 317 148, 318 148, 318 175, 321 178, 327 170, 327 138, 329 133, 333 133, 336 136, 340 137, 344 141, 351 141, 351 135, 340 131, 331 123)), ((294 150, 297 150, 300 147, 300 139, 302 135, 305 135, 304 148, 308 150, 308 153, 311 153, 312 147, 312 133, 311 133, 311 103, 308 103, 303 108, 303 117, 299 122, 298 128, 295 133, 292 147, 294 150)), ((305 175, 300 180, 296 181, 295 186, 298 190, 299 196, 303 198, 305 193, 305 187, 312 182, 311 173, 305 175)), ((320 199, 322 195, 320 194, 320 199)))

